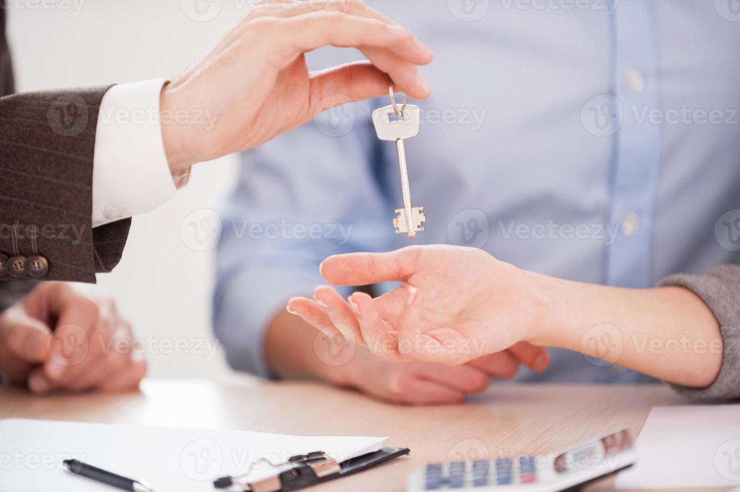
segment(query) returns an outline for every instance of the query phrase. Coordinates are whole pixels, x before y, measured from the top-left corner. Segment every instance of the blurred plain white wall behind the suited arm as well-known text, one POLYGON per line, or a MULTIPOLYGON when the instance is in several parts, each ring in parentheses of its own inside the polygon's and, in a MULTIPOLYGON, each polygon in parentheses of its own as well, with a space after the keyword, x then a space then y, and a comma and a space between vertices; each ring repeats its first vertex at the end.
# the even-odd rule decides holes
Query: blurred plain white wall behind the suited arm
MULTIPOLYGON (((193 12, 195 1, 208 6, 203 0, 5 0, 17 89, 172 78, 195 64, 246 12, 244 0, 215 0, 221 4, 218 15, 194 21, 186 11, 193 12)), ((209 359, 195 348, 214 340, 213 257, 189 249, 180 226, 191 212, 211 208, 228 192, 237 170, 233 157, 196 166, 190 184, 175 198, 134 218, 121 263, 114 272, 98 275, 98 286, 115 297, 136 334, 152 347, 149 376, 236 377, 221 350, 209 359), (196 353, 168 349, 167 343, 178 340, 187 340, 180 343, 196 353)))

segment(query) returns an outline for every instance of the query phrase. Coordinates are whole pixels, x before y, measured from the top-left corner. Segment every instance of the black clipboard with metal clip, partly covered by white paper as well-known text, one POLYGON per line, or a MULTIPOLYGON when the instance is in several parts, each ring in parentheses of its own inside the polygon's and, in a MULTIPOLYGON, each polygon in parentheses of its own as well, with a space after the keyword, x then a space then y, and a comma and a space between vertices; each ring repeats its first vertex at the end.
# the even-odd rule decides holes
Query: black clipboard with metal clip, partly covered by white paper
POLYGON ((411 452, 408 448, 380 448, 338 463, 323 451, 291 456, 275 467, 276 474, 258 482, 246 482, 242 476, 222 476, 213 482, 216 489, 248 492, 290 492, 356 474, 373 468, 398 456, 411 452))

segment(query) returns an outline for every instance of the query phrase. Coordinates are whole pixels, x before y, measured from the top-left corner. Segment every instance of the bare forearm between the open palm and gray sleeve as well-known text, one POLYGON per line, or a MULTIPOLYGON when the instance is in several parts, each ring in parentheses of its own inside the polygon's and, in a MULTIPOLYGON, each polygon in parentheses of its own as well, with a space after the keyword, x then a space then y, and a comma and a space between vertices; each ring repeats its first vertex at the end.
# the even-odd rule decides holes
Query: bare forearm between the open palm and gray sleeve
POLYGON ((719 323, 682 287, 621 289, 539 277, 540 345, 580 351, 680 385, 713 383, 723 360, 719 323))

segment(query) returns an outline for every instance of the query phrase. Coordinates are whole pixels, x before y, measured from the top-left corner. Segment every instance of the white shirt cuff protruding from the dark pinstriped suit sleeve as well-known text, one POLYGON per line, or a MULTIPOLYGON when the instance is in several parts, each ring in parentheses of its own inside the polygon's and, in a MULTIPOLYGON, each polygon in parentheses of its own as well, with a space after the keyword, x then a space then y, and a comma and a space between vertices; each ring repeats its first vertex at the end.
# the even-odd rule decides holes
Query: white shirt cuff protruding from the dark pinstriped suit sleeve
POLYGON ((92 226, 149 212, 175 194, 159 98, 166 78, 115 85, 103 96, 92 160, 92 226))

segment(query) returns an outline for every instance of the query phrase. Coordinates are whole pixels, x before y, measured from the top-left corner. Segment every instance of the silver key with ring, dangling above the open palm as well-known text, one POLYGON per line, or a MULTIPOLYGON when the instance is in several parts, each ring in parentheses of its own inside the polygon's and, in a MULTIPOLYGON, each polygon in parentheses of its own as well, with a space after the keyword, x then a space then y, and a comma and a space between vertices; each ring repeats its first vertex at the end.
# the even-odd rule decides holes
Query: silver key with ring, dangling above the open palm
POLYGON ((414 206, 411 203, 411 188, 408 186, 408 170, 406 169, 406 149, 403 141, 419 135, 420 109, 418 106, 406 104, 406 94, 403 95, 403 105, 398 107, 393 97, 392 85, 390 92, 393 104, 375 109, 372 112, 372 121, 377 138, 396 142, 403 209, 396 210, 398 217, 393 219, 393 225, 396 227, 397 234, 406 232, 408 237, 413 239, 417 232, 424 230, 421 224, 426 220, 426 216, 423 206, 414 206))

